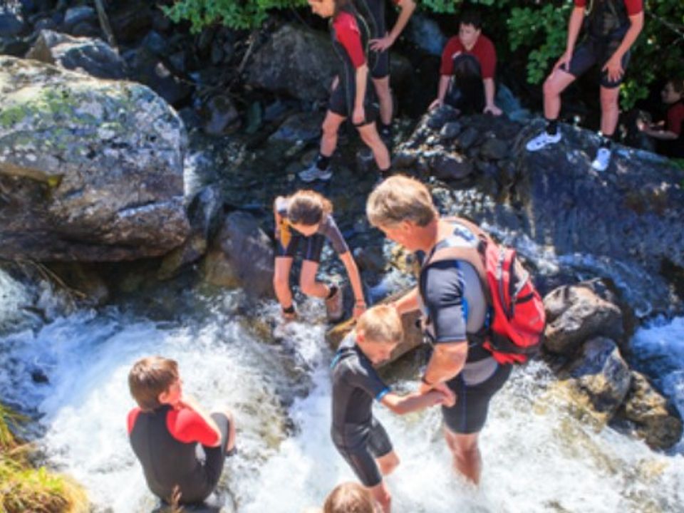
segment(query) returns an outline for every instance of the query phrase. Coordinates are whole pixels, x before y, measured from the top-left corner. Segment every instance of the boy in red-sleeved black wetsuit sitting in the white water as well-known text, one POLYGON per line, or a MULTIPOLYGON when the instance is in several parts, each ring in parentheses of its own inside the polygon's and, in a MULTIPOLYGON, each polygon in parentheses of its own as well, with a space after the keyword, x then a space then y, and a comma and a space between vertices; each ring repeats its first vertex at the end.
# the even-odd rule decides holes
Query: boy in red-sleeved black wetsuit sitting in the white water
POLYGON ((209 415, 183 395, 177 363, 161 356, 137 361, 128 385, 138 403, 128 414, 128 435, 147 487, 167 504, 201 503, 219 482, 225 457, 234 452, 231 413, 209 415), (197 457, 198 450, 204 459, 197 457))

